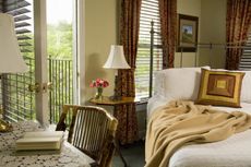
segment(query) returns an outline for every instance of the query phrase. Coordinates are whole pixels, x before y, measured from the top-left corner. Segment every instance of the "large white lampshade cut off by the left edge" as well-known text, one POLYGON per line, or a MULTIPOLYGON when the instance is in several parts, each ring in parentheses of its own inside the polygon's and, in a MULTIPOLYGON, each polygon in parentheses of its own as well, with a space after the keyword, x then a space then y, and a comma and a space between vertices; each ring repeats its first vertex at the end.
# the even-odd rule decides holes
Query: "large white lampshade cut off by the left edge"
POLYGON ((14 19, 0 13, 0 73, 19 73, 27 70, 14 32, 14 19))

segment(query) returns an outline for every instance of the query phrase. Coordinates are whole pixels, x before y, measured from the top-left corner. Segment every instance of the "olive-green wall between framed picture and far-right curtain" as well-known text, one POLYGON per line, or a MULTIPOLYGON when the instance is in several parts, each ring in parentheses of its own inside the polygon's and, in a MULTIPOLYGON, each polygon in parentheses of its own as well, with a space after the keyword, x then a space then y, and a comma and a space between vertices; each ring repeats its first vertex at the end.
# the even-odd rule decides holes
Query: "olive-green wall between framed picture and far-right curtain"
MULTIPOLYGON (((226 43, 226 4, 227 0, 201 0, 202 43, 226 43)), ((224 48, 200 50, 200 65, 225 68, 225 58, 224 48)))

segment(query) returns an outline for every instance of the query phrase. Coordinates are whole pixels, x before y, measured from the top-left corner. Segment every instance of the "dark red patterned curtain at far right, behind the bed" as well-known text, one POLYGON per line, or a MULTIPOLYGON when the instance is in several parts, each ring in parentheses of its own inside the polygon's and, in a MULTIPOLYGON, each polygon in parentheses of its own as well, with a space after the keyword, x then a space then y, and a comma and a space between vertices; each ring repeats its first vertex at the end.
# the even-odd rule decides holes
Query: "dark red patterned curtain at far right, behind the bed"
POLYGON ((227 43, 232 48, 227 49, 226 69, 236 70, 239 67, 242 49, 238 48, 248 39, 251 25, 251 0, 227 1, 227 43))

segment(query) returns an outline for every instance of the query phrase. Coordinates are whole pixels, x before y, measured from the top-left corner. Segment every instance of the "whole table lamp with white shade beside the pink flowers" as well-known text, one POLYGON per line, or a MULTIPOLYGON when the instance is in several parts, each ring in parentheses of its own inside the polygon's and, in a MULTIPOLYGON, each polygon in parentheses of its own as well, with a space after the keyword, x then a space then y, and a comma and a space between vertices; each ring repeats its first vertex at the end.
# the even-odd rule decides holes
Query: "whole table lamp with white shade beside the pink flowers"
POLYGON ((120 81, 118 79, 118 69, 130 69, 130 65, 128 64, 124 53, 123 53, 123 46, 120 45, 111 45, 110 47, 110 53, 109 57, 104 64, 105 69, 116 69, 115 74, 115 92, 113 96, 110 97, 111 100, 120 100, 121 96, 118 91, 118 82, 120 81))

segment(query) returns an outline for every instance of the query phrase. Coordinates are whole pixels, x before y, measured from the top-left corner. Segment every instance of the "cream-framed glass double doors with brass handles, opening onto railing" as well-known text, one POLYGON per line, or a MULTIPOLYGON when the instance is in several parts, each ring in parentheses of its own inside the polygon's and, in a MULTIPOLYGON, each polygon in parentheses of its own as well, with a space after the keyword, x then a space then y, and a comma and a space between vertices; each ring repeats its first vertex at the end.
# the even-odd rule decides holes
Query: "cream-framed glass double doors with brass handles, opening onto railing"
MULTIPOLYGON (((63 104, 77 102, 76 56, 73 41, 76 2, 72 0, 3 0, 3 12, 14 15, 25 74, 2 75, 1 97, 9 121, 37 119, 58 122, 63 104)), ((1 98, 0 97, 0 98, 1 98)))

